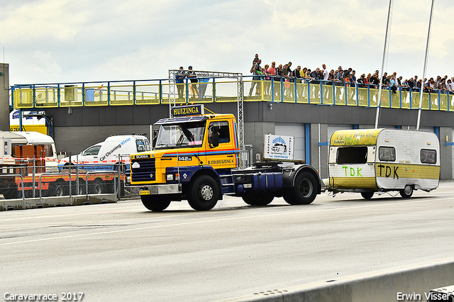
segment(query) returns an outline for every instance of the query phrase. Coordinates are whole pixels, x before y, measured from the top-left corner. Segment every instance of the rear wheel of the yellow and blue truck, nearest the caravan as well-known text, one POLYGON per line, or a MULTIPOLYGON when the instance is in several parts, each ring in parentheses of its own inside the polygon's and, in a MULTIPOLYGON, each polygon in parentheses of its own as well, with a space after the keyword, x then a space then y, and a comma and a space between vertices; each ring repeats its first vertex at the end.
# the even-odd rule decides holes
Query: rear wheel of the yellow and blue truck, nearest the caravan
POLYGON ((316 187, 314 176, 309 172, 301 172, 295 179, 294 187, 284 190, 282 197, 292 205, 309 204, 317 196, 316 187))

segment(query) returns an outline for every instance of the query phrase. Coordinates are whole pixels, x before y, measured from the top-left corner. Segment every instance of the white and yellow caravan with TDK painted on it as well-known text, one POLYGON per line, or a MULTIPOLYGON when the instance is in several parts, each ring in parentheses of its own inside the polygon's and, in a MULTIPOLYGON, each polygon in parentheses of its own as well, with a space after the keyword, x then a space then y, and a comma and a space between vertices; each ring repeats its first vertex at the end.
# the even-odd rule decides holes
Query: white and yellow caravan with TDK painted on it
POLYGON ((429 131, 400 129, 338 130, 331 135, 327 191, 399 191, 409 198, 414 190, 431 191, 440 179, 440 142, 429 131))

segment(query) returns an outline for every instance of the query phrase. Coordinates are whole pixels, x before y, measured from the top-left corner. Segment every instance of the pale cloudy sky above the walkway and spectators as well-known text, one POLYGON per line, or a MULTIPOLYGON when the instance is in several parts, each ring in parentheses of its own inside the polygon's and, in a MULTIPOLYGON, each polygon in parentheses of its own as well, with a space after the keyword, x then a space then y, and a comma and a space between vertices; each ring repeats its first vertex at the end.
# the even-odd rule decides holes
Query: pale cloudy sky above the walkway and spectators
MULTIPOLYGON (((394 0, 384 71, 423 74, 432 0, 394 0)), ((382 65, 387 0, 0 1, 10 85, 165 79, 169 69, 382 65)), ((454 1, 436 0, 426 77, 454 77, 454 1)))

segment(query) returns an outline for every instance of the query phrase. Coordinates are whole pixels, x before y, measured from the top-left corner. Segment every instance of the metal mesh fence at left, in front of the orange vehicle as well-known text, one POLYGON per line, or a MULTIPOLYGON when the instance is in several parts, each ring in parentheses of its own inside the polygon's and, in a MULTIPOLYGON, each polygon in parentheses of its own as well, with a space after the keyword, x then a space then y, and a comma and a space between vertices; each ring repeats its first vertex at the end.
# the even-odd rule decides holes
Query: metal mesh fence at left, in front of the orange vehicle
POLYGON ((46 198, 55 196, 124 195, 121 171, 43 172, 45 167, 11 164, 0 168, 0 198, 46 198))

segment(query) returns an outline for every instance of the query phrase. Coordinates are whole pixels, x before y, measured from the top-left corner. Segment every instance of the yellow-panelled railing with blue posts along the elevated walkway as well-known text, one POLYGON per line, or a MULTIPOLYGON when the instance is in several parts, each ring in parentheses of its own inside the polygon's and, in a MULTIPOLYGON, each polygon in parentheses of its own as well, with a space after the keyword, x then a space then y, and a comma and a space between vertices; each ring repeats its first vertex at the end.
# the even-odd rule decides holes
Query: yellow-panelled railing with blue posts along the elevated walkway
MULTIPOLYGON (((283 82, 271 77, 243 77, 244 101, 377 107, 378 89, 374 86, 348 86, 328 81, 283 82)), ((208 82, 177 84, 176 102, 236 102, 236 81, 209 78, 208 82)), ((55 108, 77 106, 124 106, 168 104, 168 79, 31 84, 11 86, 13 108, 55 108)), ((453 111, 454 94, 448 91, 423 93, 424 110, 453 111)), ((382 89, 381 107, 419 108, 419 91, 399 87, 396 92, 382 89)))

